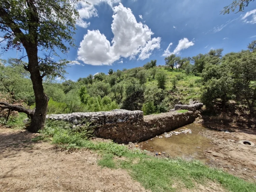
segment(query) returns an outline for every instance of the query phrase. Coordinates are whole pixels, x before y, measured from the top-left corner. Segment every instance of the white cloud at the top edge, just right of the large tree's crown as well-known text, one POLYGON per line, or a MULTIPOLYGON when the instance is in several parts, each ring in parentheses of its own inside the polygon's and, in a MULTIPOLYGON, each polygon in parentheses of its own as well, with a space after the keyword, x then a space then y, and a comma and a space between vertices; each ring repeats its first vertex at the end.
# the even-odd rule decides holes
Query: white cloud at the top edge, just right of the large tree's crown
POLYGON ((89 19, 91 17, 98 17, 96 5, 100 3, 107 3, 111 7, 113 4, 120 2, 121 0, 90 0, 90 4, 87 4, 85 1, 79 1, 75 8, 79 12, 80 19, 76 20, 76 25, 87 28, 90 25, 90 22, 85 21, 85 19, 89 19))

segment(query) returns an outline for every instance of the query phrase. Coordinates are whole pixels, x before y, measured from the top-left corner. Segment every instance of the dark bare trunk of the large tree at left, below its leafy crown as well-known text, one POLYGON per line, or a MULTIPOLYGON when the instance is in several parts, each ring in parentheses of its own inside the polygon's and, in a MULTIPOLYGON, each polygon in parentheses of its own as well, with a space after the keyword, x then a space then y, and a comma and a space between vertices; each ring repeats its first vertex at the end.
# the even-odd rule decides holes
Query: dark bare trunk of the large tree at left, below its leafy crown
POLYGON ((43 79, 39 70, 37 46, 35 45, 26 48, 26 51, 28 54, 28 70, 31 74, 30 78, 33 84, 33 90, 35 94, 35 112, 33 118, 31 119, 28 131, 35 133, 38 132, 38 130, 43 129, 44 127, 48 98, 46 94, 44 94, 42 84, 43 79))

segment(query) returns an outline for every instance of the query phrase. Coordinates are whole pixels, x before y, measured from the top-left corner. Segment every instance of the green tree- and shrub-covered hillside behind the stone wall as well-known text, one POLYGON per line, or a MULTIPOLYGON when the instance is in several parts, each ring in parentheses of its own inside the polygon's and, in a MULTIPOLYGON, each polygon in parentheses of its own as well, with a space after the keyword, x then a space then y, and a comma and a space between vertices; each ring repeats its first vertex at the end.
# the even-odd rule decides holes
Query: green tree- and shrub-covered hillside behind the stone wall
MULTIPOLYGON (((97 112, 116 108, 143 110, 145 115, 167 112, 174 104, 200 100, 209 109, 226 108, 230 101, 254 113, 256 101, 256 41, 248 50, 222 55, 223 49, 181 58, 170 55, 165 65, 156 60, 143 67, 81 77, 62 83, 44 78, 48 114, 97 112)), ((0 94, 9 103, 34 108, 29 73, 15 59, 1 60, 0 94)), ((220 110, 218 110, 220 111, 220 110)), ((15 116, 8 109, 1 117, 15 116), (9 114, 9 115, 8 115, 9 114)))

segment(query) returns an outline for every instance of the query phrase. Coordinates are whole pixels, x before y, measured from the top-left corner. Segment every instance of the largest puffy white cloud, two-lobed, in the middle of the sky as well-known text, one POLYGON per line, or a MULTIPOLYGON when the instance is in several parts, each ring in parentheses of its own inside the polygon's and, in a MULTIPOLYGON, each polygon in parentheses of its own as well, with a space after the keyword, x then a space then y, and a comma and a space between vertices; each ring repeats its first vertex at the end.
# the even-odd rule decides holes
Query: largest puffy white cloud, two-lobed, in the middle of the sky
POLYGON ((99 30, 88 30, 80 42, 77 59, 91 65, 110 65, 120 57, 146 59, 155 48, 160 48, 161 38, 151 39, 154 33, 147 25, 137 23, 129 8, 122 3, 113 8, 111 25, 114 37, 111 43, 99 30))

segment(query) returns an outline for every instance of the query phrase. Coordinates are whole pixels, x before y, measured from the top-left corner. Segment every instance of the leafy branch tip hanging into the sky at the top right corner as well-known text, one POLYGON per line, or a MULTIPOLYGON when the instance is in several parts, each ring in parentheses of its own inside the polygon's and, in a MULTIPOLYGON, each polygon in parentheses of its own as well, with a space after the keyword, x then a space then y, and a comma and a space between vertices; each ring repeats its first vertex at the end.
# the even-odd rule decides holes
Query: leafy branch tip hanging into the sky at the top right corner
POLYGON ((229 14, 230 11, 234 12, 236 8, 239 8, 236 13, 243 12, 244 8, 247 7, 251 1, 254 1, 254 0, 233 0, 230 5, 225 6, 223 8, 223 10, 221 11, 221 14, 224 14, 224 15, 226 13, 229 14))

